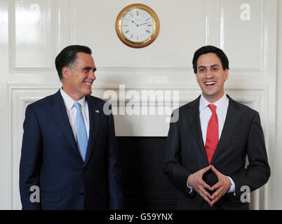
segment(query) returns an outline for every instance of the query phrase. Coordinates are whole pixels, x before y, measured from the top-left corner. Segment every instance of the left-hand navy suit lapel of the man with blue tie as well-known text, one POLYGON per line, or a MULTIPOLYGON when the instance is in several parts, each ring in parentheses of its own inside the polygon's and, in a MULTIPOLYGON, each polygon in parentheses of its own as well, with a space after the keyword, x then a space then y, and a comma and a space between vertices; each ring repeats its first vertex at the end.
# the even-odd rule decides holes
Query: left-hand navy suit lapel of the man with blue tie
POLYGON ((62 99, 62 95, 60 94, 60 90, 53 95, 53 109, 51 109, 50 111, 53 114, 55 123, 57 123, 62 130, 62 134, 65 136, 65 139, 67 139, 69 145, 72 146, 74 151, 79 155, 77 144, 74 139, 72 127, 69 124, 69 118, 67 117, 67 111, 62 99))

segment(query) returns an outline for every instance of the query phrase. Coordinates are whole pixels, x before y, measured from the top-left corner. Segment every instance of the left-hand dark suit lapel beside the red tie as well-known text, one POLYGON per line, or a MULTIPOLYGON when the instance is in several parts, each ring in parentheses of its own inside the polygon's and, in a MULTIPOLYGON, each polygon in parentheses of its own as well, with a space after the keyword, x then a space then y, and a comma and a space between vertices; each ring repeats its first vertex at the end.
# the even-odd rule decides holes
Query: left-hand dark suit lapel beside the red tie
POLYGON ((200 122, 200 115, 199 115, 200 114, 199 113, 200 97, 194 100, 194 102, 190 103, 190 111, 187 113, 187 116, 188 116, 188 120, 190 123, 193 137, 199 146, 199 150, 201 151, 204 160, 208 163, 205 146, 203 145, 203 136, 202 136, 202 131, 201 131, 201 122, 200 122))

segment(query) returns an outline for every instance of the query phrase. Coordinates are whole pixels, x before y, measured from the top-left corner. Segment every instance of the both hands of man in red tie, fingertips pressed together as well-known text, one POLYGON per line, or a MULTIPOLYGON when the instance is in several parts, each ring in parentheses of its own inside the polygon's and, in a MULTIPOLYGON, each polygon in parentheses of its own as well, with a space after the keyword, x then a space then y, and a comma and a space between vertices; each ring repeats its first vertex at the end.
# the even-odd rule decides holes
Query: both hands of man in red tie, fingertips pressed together
POLYGON ((221 174, 217 169, 215 169, 215 167, 213 167, 213 165, 209 165, 208 167, 200 169, 198 172, 191 174, 188 178, 188 184, 190 187, 196 190, 196 192, 199 193, 199 195, 201 195, 206 202, 208 202, 210 207, 212 207, 215 202, 220 200, 220 198, 231 188, 230 179, 224 174, 221 174), (218 179, 217 183, 215 183, 215 185, 212 187, 203 181, 203 174, 208 172, 210 169, 216 174, 218 179), (210 195, 206 189, 210 191, 215 190, 215 192, 213 195, 210 195))

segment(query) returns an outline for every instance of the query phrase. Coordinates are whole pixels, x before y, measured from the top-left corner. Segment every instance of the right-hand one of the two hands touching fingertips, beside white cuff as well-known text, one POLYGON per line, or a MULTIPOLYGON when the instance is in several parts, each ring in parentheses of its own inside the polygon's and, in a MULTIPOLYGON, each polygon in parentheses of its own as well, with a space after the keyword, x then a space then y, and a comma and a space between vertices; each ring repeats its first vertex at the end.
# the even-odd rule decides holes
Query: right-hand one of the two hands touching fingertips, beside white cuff
POLYGON ((211 166, 211 169, 216 174, 218 182, 215 183, 215 185, 211 188, 211 190, 217 190, 215 190, 215 193, 213 193, 213 195, 210 197, 212 200, 209 203, 210 207, 212 207, 215 202, 220 200, 220 197, 225 195, 231 188, 231 182, 227 176, 221 174, 217 169, 215 169, 215 167, 213 167, 213 165, 211 166))

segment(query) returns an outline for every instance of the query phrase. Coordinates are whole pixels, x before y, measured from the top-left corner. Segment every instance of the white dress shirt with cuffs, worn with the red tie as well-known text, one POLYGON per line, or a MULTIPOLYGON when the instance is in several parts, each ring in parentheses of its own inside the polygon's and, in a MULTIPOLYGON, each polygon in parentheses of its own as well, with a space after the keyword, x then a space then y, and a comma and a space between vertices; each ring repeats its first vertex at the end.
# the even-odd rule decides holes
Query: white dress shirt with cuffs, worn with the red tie
MULTIPOLYGON (((200 104, 199 104, 199 112, 200 112, 200 123, 201 123, 201 131, 202 131, 204 146, 206 146, 206 135, 207 135, 207 130, 208 130, 208 121, 210 120, 210 117, 213 114, 212 111, 210 111, 208 104, 210 104, 210 102, 208 102, 203 97, 203 95, 201 95, 200 104)), ((220 139, 221 134, 222 134, 222 129, 223 129, 223 126, 224 126, 224 122, 225 122, 225 118, 226 118, 226 115, 227 115, 229 99, 227 98, 227 95, 224 94, 223 97, 221 97, 219 100, 217 100, 217 102, 215 102, 213 104, 216 106, 215 113, 217 114, 218 137, 220 139)), ((227 177, 231 181, 231 188, 230 188, 228 193, 234 193, 235 192, 235 183, 229 176, 227 176, 227 177)), ((191 188, 190 186, 188 186, 188 187, 191 188)))

